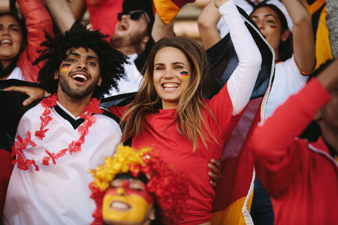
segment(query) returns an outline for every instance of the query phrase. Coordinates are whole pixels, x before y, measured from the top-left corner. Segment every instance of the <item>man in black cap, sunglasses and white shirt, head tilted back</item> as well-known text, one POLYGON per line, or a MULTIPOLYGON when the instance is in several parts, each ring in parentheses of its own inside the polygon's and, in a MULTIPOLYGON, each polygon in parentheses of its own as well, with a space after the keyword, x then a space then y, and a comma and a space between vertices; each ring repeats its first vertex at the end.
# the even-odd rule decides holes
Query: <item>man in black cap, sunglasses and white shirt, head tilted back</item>
POLYGON ((138 91, 143 79, 142 68, 155 43, 151 36, 155 17, 150 1, 124 0, 117 19, 111 43, 115 49, 128 56, 130 64, 124 65, 127 78, 119 82, 119 90, 112 89, 105 97, 138 91))

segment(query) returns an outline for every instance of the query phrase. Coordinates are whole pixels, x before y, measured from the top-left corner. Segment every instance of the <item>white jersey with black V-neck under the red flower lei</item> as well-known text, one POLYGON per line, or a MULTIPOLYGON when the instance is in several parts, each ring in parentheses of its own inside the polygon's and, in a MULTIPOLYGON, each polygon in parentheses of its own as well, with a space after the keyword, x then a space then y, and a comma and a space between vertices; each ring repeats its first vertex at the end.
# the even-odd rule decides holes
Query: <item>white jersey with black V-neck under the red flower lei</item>
MULTIPOLYGON (((57 106, 56 106, 57 107, 57 106)), ((10 177, 3 210, 3 224, 90 224, 95 202, 89 198, 89 183, 93 181, 87 169, 95 169, 104 162, 104 157, 112 156, 120 142, 121 129, 118 123, 107 115, 94 114, 95 123, 84 137, 81 151, 66 153, 56 160, 56 165, 49 160, 49 165, 41 165, 45 150, 58 152, 68 147, 71 141, 80 137, 75 118, 63 106, 58 110, 52 107, 49 114, 52 121, 46 128, 43 141, 34 136, 41 126, 39 117, 45 108, 37 104, 27 110, 16 130, 16 135, 25 137, 32 132, 31 145, 23 150, 26 159, 34 158, 40 171, 30 167, 24 171, 15 165, 10 177), (67 116, 68 115, 68 116, 67 116), (73 125, 72 125, 73 124, 73 125), (75 127, 74 127, 75 126, 75 127)), ((16 137, 16 136, 15 136, 16 137)))

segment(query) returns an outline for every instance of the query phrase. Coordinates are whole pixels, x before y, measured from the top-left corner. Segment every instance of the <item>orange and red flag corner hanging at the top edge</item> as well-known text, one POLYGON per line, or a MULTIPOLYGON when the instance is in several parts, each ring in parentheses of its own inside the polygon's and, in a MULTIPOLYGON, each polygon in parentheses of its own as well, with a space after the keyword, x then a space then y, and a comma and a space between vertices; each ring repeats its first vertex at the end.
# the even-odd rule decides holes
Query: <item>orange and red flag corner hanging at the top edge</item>
POLYGON ((159 15, 164 23, 170 23, 172 19, 179 13, 182 6, 188 2, 194 2, 195 0, 153 0, 154 5, 159 15))

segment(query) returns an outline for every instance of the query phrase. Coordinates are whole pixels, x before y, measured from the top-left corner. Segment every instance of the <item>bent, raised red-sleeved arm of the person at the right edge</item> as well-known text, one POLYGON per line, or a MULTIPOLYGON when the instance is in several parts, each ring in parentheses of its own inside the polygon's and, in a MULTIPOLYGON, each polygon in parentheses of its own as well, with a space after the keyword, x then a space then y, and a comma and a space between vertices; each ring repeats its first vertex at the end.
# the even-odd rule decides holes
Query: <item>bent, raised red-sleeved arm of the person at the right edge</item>
POLYGON ((338 60, 335 60, 254 130, 249 147, 256 158, 258 178, 271 195, 280 196, 293 182, 304 159, 295 138, 308 126, 317 110, 329 101, 328 92, 337 90, 337 85, 338 60))

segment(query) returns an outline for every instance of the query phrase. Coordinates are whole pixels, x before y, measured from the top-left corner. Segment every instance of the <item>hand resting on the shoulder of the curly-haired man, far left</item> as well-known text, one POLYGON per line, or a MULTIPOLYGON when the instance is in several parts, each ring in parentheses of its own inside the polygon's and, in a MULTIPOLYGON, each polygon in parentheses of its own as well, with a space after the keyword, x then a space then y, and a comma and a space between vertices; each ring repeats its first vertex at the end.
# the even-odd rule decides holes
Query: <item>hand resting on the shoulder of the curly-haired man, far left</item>
POLYGON ((30 97, 23 101, 23 106, 28 106, 32 104, 32 102, 34 102, 35 100, 45 97, 45 90, 35 86, 10 86, 3 89, 3 91, 19 91, 21 93, 26 93, 27 95, 29 95, 30 97))

